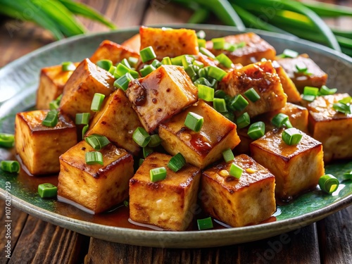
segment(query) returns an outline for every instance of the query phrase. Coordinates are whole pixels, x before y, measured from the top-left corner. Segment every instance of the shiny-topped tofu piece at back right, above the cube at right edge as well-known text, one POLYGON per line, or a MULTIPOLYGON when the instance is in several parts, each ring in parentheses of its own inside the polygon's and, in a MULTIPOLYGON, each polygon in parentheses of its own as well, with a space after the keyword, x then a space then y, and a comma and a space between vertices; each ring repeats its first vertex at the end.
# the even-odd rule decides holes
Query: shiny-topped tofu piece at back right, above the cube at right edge
POLYGON ((296 85, 299 92, 303 92, 306 86, 322 87, 327 82, 327 74, 310 59, 306 54, 302 54, 297 58, 278 58, 277 62, 284 68, 285 72, 296 85), (303 63, 307 67, 307 73, 298 73, 297 63, 303 63))

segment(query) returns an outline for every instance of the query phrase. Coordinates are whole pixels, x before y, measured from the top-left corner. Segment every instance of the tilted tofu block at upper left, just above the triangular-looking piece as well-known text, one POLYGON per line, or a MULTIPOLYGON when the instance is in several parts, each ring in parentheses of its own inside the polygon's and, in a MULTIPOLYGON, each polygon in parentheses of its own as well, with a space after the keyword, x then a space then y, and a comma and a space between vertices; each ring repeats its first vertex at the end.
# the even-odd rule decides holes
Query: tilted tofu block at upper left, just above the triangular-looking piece
POLYGON ((60 108, 63 113, 67 113, 71 118, 75 118, 76 113, 91 113, 90 106, 95 93, 111 94, 114 77, 106 70, 84 59, 71 75, 63 88, 63 96, 60 108))

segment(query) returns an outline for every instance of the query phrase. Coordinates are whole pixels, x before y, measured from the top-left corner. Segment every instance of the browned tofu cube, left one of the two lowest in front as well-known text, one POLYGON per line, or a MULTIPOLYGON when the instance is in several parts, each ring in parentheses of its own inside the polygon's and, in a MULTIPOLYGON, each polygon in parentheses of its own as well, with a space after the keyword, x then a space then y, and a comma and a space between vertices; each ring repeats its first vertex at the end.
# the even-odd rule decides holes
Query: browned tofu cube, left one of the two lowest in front
POLYGON ((185 165, 172 172, 171 156, 152 153, 139 166, 130 180, 130 218, 136 222, 156 225, 165 230, 187 230, 194 216, 201 170, 185 165), (165 167, 166 178, 151 182, 149 172, 165 167))

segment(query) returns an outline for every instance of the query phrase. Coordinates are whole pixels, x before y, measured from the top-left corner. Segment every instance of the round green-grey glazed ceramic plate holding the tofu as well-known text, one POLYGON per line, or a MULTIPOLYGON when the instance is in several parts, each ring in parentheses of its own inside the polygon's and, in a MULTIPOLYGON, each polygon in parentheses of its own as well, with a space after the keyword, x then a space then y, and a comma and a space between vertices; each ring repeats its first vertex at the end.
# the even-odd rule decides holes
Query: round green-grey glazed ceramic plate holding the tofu
MULTIPOLYGON (((239 33, 235 27, 215 25, 172 25, 204 30, 207 38, 222 37, 239 33)), ((332 49, 306 42, 295 37, 256 31, 275 46, 277 53, 284 49, 294 49, 309 54, 329 74, 328 85, 337 87, 339 92, 352 92, 352 59, 332 49)), ((91 56, 103 39, 121 43, 138 32, 134 27, 128 30, 82 35, 64 39, 44 46, 37 51, 9 63, 0 70, 0 132, 13 133, 15 113, 34 106, 35 92, 39 80, 39 70, 62 61, 81 61, 91 56)), ((0 160, 14 158, 12 150, 0 149, 0 160)), ((107 241, 139 246, 168 248, 202 248, 238 244, 272 237, 283 232, 296 230, 312 222, 325 218, 352 203, 352 182, 342 182, 341 176, 352 169, 352 163, 334 163, 326 170, 337 176, 340 187, 332 195, 317 189, 303 194, 284 206, 277 206, 272 222, 247 227, 226 228, 206 231, 168 232, 155 230, 135 230, 125 222, 114 221, 113 213, 89 215, 56 200, 41 199, 37 194, 37 184, 57 182, 56 177, 30 177, 21 171, 13 176, 0 171, 0 196, 6 199, 6 191, 11 193, 11 206, 20 208, 42 220, 74 230, 81 234, 107 241), (8 187, 11 187, 9 189, 8 187)), ((8 197, 7 197, 8 198, 8 197)), ((128 214, 125 210, 125 214, 128 214)))

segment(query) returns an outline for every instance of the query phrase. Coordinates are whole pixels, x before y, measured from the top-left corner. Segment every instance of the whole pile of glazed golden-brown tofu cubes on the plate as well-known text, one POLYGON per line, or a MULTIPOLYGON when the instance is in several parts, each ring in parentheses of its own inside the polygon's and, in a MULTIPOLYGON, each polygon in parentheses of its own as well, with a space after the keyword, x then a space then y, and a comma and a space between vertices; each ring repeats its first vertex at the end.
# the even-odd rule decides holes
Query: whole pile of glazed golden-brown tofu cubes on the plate
POLYGON ((278 58, 275 49, 254 33, 225 39, 245 45, 226 51, 206 43, 215 56, 224 53, 233 62, 218 89, 229 96, 256 90, 260 99, 249 101, 244 111, 234 115, 247 112, 252 122, 265 122, 263 137, 251 139, 248 127, 237 129, 211 102, 199 99, 197 87, 181 66, 161 65, 146 77, 132 80, 126 91, 116 89, 113 75, 95 63, 109 59, 115 65, 124 58, 139 58, 139 50, 147 46, 153 47, 159 60, 189 54, 204 65, 221 67, 199 53, 194 30, 141 27, 139 34, 122 44, 103 41, 90 58, 75 63, 74 71, 63 72, 61 65, 42 69, 37 110, 15 118, 15 149, 23 165, 32 175, 58 173, 59 200, 102 213, 129 199, 131 220, 164 230, 187 230, 200 207, 232 227, 270 218, 276 210, 275 199, 289 201, 316 187, 325 173, 324 161, 352 158, 352 115, 332 108, 348 95, 318 96, 303 106, 298 91, 305 86, 321 87, 327 80, 307 55, 278 58), (297 61, 307 65, 310 75, 296 73, 297 61), (90 110, 95 93, 106 96, 96 113, 90 110), (49 103, 60 94, 58 124, 45 127, 42 120, 49 103), (185 127, 189 112, 203 117, 200 132, 185 127), (85 163, 84 154, 93 149, 82 139, 82 127, 73 121, 77 113, 90 113, 85 137, 101 134, 110 140, 101 150, 103 165, 85 163), (277 113, 289 115, 291 124, 303 133, 297 145, 285 144, 284 128, 270 122, 277 113), (142 149, 132 139, 137 127, 158 134, 163 147, 139 167, 142 149), (222 152, 229 148, 235 157, 226 163, 222 152), (182 153, 187 165, 173 172, 168 162, 177 153, 182 153), (243 170, 239 179, 229 173, 232 163, 243 170), (159 167, 167 170, 165 180, 151 182, 150 170, 159 167))

